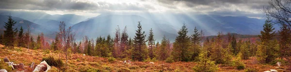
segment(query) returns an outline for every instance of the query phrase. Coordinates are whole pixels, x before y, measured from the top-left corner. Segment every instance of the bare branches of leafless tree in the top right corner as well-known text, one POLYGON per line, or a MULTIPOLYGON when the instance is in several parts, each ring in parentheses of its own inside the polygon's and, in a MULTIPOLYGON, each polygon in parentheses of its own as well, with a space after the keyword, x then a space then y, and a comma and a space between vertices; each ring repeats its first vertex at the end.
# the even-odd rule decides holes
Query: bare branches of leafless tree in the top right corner
POLYGON ((286 25, 291 32, 291 0, 271 0, 264 12, 274 18, 276 24, 286 25))

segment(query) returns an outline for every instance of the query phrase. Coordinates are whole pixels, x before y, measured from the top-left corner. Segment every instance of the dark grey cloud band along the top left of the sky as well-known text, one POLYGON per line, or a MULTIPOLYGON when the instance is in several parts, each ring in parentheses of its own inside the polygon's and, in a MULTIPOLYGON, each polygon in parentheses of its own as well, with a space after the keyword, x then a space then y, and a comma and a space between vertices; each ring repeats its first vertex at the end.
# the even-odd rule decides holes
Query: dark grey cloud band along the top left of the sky
POLYGON ((94 10, 93 2, 75 0, 0 0, 0 9, 23 10, 94 10))

